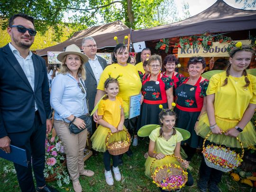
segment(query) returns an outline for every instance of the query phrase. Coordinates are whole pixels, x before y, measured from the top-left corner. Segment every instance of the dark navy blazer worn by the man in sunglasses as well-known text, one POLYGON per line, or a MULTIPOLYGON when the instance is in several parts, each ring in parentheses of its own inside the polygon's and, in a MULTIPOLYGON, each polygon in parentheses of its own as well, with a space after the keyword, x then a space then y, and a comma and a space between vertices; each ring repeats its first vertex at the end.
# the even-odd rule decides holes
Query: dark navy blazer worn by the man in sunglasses
POLYGON ((0 48, 0 138, 32 128, 35 100, 42 124, 46 123, 46 117, 51 112, 45 60, 34 53, 32 60, 34 92, 9 44, 0 48))

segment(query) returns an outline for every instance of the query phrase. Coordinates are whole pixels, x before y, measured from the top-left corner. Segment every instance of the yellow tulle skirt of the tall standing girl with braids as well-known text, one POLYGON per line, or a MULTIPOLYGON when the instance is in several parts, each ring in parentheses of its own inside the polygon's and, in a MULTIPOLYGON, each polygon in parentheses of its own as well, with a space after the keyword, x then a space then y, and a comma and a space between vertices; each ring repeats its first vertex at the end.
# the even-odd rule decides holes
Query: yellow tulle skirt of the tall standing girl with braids
MULTIPOLYGON (((216 124, 223 131, 228 131, 230 128, 235 127, 239 122, 238 120, 223 119, 220 117, 215 117, 215 120, 216 124)), ((205 138, 207 134, 211 133, 207 113, 200 117, 198 125, 195 128, 195 132, 203 138, 205 138)), ((243 143, 243 147, 245 148, 256 144, 256 131, 251 121, 247 123, 243 132, 238 134, 238 139, 243 143)), ((208 140, 216 144, 226 145, 227 147, 241 148, 236 138, 226 136, 224 134, 211 134, 208 140)))

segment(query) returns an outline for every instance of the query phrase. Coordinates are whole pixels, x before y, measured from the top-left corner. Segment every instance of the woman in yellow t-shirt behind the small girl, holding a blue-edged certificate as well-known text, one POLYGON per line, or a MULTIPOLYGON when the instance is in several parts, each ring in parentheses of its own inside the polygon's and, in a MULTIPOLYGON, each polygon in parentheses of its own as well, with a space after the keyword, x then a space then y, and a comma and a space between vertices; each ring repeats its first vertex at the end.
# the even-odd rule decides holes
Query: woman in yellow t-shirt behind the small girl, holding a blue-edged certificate
MULTIPOLYGON (((129 52, 127 46, 120 43, 114 49, 114 55, 112 58, 113 64, 107 66, 100 78, 99 85, 97 87, 97 94, 95 97, 95 105, 101 99, 101 97, 105 94, 104 91, 104 82, 107 78, 109 78, 109 74, 111 73, 111 77, 116 78, 118 75, 122 74, 119 77, 119 93, 118 97, 122 98, 124 102, 124 116, 125 121, 124 125, 128 129, 129 134, 132 136, 134 133, 135 125, 137 117, 128 119, 128 112, 129 112, 129 99, 130 96, 137 95, 141 93, 141 81, 138 75, 137 68, 131 64, 129 64, 129 52)), ((143 97, 141 97, 141 102, 143 97)), ((93 118, 95 121, 98 121, 98 113, 97 111, 93 114, 93 118)), ((132 155, 131 150, 127 152, 128 156, 132 155)), ((119 165, 122 165, 122 159, 119 159, 119 165)))

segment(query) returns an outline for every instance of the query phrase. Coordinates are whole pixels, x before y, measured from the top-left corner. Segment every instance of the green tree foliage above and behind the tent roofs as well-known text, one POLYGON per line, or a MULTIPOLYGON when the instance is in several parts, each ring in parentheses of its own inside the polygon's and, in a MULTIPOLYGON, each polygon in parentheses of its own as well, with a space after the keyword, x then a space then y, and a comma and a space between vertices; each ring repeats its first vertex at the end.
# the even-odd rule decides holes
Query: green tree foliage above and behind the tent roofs
MULTIPOLYGON (((184 8, 188 10, 188 5, 184 8)), ((65 26, 79 31, 121 20, 128 27, 140 29, 180 20, 174 0, 0 0, 2 29, 6 29, 7 19, 17 13, 34 17, 42 35, 51 28, 56 42, 65 33, 65 26), (69 23, 64 23, 64 14, 68 12, 73 12, 73 16, 69 23)))

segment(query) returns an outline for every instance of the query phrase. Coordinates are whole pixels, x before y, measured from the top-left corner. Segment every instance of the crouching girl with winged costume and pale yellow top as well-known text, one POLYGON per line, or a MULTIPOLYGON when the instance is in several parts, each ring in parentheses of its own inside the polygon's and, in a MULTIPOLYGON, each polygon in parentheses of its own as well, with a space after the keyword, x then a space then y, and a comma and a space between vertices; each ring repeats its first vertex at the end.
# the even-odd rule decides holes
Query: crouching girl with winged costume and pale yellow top
MULTIPOLYGON (((160 105, 162 108, 162 106, 160 105)), ((183 167, 189 167, 188 161, 183 162, 180 159, 174 157, 165 157, 165 155, 175 155, 182 158, 180 154, 181 141, 183 140, 182 134, 178 132, 175 128, 176 115, 172 109, 162 109, 159 114, 159 119, 161 121, 161 126, 154 129, 149 135, 149 147, 148 147, 148 157, 145 163, 145 175, 150 177, 150 166, 153 160, 157 159, 152 165, 153 172, 156 167, 174 163, 176 165, 182 165, 183 167)), ((192 186, 193 178, 188 171, 188 181, 187 186, 192 186)), ((162 189, 160 189, 161 191, 162 189)))

